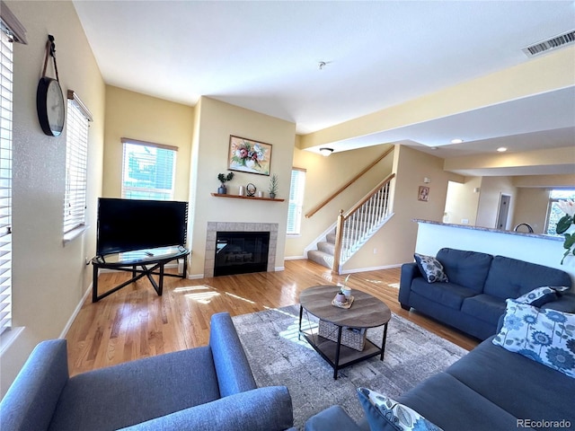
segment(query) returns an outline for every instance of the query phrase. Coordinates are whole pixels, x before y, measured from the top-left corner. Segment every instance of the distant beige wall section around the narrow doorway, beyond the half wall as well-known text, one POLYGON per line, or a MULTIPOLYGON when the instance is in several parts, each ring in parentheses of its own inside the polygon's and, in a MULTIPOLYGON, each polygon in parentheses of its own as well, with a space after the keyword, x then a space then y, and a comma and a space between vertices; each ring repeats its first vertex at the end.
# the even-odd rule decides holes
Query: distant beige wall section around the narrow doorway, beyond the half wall
POLYGON ((509 216, 505 230, 512 229, 516 193, 517 189, 513 185, 512 177, 483 177, 475 225, 495 229, 500 208, 500 197, 501 195, 509 195, 511 199, 509 200, 509 216))

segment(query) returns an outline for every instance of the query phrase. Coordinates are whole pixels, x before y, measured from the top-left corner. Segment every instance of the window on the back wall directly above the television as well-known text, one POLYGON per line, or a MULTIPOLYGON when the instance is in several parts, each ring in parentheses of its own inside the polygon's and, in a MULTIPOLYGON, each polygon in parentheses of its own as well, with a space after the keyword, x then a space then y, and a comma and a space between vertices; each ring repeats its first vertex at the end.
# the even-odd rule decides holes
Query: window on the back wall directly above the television
POLYGON ((122 198, 172 200, 178 148, 126 137, 122 144, 122 198))

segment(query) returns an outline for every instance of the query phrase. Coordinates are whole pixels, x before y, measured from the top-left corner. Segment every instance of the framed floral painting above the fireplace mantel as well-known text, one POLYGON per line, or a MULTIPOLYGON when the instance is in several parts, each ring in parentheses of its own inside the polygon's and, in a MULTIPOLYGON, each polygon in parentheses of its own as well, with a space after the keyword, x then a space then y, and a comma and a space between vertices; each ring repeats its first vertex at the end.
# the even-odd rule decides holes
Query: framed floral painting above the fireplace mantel
POLYGON ((230 135, 228 170, 270 176, 270 166, 271 144, 230 135))

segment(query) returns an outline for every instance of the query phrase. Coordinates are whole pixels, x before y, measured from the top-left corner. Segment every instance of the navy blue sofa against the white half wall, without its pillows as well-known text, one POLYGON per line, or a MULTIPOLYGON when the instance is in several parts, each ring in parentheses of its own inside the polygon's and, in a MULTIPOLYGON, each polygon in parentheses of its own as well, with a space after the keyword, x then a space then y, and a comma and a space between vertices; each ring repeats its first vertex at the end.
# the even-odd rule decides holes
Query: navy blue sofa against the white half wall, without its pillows
MULTIPOLYGON (((403 264, 399 302, 404 310, 413 307, 478 339, 495 334, 507 298, 539 286, 571 287, 566 272, 524 260, 448 248, 438 251, 437 259, 449 281, 428 283, 415 262, 403 264)), ((562 295, 543 308, 575 309, 575 295, 562 295)))

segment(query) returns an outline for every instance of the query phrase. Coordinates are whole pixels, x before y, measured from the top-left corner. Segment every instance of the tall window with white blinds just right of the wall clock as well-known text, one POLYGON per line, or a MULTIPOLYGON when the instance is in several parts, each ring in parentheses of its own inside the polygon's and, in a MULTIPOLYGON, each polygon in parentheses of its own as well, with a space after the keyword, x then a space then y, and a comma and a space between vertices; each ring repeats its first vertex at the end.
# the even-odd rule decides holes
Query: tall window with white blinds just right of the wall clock
POLYGON ((66 120, 66 193, 64 240, 84 232, 88 169, 88 121, 92 114, 73 91, 68 91, 66 120))

